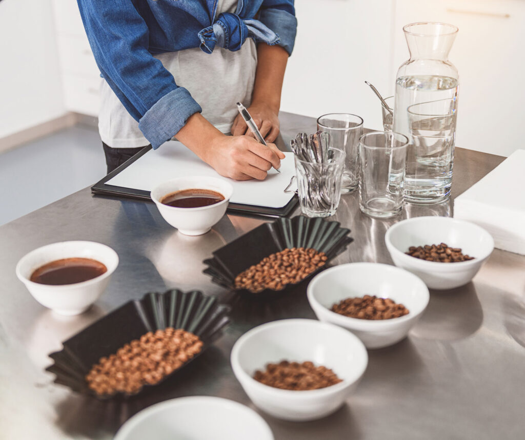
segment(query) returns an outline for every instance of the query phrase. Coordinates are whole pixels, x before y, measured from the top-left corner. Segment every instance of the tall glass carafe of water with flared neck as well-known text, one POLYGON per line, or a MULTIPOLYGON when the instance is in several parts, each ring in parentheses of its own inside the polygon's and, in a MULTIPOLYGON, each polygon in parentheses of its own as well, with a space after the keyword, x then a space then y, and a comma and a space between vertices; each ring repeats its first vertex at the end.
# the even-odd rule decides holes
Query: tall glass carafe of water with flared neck
MULTIPOLYGON (((458 97, 458 71, 448 61, 457 27, 443 23, 413 23, 403 28, 410 59, 396 76, 393 131, 409 139, 406 161, 405 200, 437 203, 450 194, 454 162, 455 121, 458 97), (428 138, 414 142, 408 107, 414 104, 451 100, 454 134, 428 131, 428 138), (450 142, 452 141, 452 142, 450 142)), ((428 126, 439 125, 443 115, 429 112, 428 126)), ((418 120, 421 126, 421 119, 418 120)))

